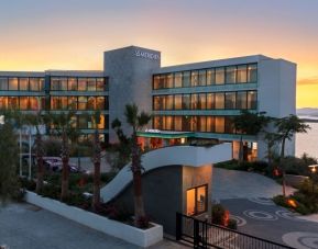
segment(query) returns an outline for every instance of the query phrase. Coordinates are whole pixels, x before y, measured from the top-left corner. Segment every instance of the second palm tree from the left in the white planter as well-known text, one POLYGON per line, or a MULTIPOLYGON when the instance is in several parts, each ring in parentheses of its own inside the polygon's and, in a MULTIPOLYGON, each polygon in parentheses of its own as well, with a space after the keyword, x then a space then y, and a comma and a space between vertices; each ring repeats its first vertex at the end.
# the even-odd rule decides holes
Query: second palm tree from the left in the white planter
POLYGON ((62 190, 61 200, 68 196, 68 179, 69 179, 69 142, 74 142, 77 136, 75 112, 67 111, 58 114, 50 114, 46 116, 46 123, 51 125, 51 134, 62 139, 61 157, 62 157, 62 190))

